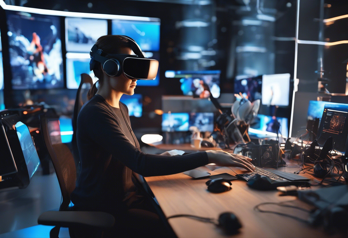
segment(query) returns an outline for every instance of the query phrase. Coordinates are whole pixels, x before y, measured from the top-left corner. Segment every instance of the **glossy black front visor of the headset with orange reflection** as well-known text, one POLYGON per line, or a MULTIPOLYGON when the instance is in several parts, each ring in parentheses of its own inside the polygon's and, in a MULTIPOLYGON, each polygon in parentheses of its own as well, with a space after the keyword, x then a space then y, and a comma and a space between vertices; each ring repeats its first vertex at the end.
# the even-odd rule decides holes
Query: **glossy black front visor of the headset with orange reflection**
POLYGON ((157 76, 158 61, 147 58, 125 58, 123 72, 129 78, 155 79, 157 76))

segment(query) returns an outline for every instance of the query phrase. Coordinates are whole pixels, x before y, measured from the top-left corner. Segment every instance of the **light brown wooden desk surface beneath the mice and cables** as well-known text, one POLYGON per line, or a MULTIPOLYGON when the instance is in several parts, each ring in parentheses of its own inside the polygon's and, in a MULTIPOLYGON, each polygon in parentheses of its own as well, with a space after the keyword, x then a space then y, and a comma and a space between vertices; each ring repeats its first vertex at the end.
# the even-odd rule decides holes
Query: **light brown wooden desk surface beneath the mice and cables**
MULTIPOLYGON (((238 168, 236 173, 242 172, 238 168)), ((280 168, 285 171, 295 171, 297 165, 288 164, 280 168)), ((212 175, 220 173, 235 173, 229 167, 213 170, 212 175)), ((311 208, 294 196, 279 196, 278 191, 258 191, 248 188, 243 180, 232 181, 232 190, 223 193, 207 191, 205 182, 194 180, 183 173, 146 177, 149 187, 154 193, 166 217, 176 214, 191 214, 216 218, 223 212, 233 212, 241 221, 243 227, 233 237, 326 237, 322 228, 313 228, 290 217, 271 213, 260 213, 253 208, 264 202, 284 202, 303 208, 311 208)), ((298 209, 284 208, 276 205, 264 205, 262 209, 271 209, 282 213, 308 218, 308 213, 298 209)), ((168 220, 178 237, 227 237, 221 228, 214 224, 196 221, 187 217, 177 217, 168 220)), ((339 234, 338 234, 339 236, 339 234)), ((332 237, 332 236, 330 236, 332 237)))

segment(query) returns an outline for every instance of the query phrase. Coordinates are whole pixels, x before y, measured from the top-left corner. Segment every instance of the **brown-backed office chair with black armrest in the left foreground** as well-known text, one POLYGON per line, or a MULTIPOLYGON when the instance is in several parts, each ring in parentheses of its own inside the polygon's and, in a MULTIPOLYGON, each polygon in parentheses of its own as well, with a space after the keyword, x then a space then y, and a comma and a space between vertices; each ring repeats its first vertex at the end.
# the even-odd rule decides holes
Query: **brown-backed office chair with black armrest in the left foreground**
POLYGON ((76 229, 88 229, 102 235, 103 229, 112 228, 115 223, 113 215, 105 212, 71 211, 69 207, 71 192, 75 189, 76 166, 73 155, 60 138, 58 118, 48 118, 46 114, 40 116, 41 132, 45 146, 56 171, 58 183, 62 192, 62 204, 59 211, 48 211, 40 215, 38 223, 54 225, 50 237, 58 237, 61 227, 68 227, 73 237, 76 229), (71 232, 71 228, 75 228, 71 232), (99 233, 100 232, 100 233, 99 233))

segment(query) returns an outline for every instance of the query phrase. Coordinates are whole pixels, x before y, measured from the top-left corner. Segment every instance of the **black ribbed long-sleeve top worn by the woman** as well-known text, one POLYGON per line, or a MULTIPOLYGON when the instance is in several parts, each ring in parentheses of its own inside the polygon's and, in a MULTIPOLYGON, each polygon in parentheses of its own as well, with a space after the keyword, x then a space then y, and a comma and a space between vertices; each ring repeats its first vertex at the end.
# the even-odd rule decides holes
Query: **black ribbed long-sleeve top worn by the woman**
POLYGON ((208 164, 206 152, 161 156, 141 152, 127 106, 110 106, 95 95, 77 119, 80 175, 71 201, 83 209, 124 208, 136 200, 133 171, 143 176, 181 173, 208 164), (127 122, 128 124, 127 124, 127 122))

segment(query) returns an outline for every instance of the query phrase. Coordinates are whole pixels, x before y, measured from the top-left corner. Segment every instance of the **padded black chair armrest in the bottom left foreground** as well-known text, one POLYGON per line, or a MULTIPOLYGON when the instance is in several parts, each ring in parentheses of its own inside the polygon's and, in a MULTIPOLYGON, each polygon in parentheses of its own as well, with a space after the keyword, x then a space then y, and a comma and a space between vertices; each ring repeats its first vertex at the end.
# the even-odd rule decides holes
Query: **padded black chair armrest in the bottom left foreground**
POLYGON ((39 216, 40 225, 54 225, 60 227, 91 226, 111 228, 115 224, 115 217, 106 212, 89 211, 47 211, 39 216))

